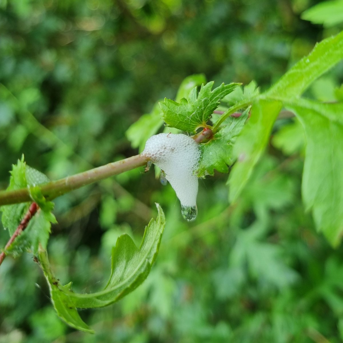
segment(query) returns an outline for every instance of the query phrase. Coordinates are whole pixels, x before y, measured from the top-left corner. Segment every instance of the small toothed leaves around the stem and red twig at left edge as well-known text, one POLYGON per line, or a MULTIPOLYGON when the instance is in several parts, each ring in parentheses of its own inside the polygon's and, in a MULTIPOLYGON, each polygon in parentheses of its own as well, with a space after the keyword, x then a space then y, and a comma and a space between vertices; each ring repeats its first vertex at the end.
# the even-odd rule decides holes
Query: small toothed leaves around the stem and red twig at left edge
MULTIPOLYGON (((51 213, 54 208, 54 203, 46 201, 37 185, 48 181, 49 179, 43 173, 26 165, 24 156, 12 167, 10 185, 7 190, 29 187, 32 200, 40 208, 36 215, 32 217, 26 229, 7 249, 7 253, 14 257, 20 256, 24 251, 36 255, 39 243, 43 247, 47 245, 51 223, 56 223, 56 218, 51 213)), ((9 230, 10 236, 13 235, 22 221, 29 206, 29 202, 1 206, 2 224, 5 229, 9 230)))

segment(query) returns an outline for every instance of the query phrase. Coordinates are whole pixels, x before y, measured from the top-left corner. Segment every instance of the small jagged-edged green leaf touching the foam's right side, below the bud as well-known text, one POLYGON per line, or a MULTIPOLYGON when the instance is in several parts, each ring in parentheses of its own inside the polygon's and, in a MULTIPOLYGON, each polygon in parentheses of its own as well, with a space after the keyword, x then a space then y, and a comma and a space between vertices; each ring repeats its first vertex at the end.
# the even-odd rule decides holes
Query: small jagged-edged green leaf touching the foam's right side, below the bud
POLYGON ((233 164, 233 145, 237 135, 243 129, 248 118, 250 107, 238 118, 228 118, 224 122, 224 127, 218 131, 211 140, 205 144, 200 144, 201 161, 197 174, 199 177, 213 175, 214 169, 221 173, 228 172, 228 165, 233 164))

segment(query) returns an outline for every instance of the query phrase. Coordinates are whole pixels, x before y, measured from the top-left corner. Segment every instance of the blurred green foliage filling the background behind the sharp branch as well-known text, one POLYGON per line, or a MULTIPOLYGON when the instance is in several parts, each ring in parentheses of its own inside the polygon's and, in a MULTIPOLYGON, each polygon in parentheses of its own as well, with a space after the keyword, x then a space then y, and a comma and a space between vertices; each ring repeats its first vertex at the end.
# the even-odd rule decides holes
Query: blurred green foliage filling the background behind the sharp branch
MULTIPOLYGON (((310 0, 0 1, 0 189, 21 154, 57 179, 137 153, 125 131, 181 81, 256 80, 262 90, 342 23, 300 19, 310 0)), ((340 64, 310 97, 342 99, 340 64)), ((0 268, 0 342, 340 342, 342 247, 315 232, 300 198, 304 137, 280 119, 235 206, 227 177, 200 182, 197 220, 170 186, 137 169, 56 199, 48 250, 61 283, 103 286, 118 235, 141 241, 161 203, 166 228, 147 280, 82 311, 95 335, 62 323, 32 257, 0 268), (105 272, 104 272, 105 271, 105 272)), ((139 144, 139 143, 138 143, 139 144)), ((138 146, 138 144, 136 146, 138 146)), ((8 240, 2 230, 0 246, 8 240)))

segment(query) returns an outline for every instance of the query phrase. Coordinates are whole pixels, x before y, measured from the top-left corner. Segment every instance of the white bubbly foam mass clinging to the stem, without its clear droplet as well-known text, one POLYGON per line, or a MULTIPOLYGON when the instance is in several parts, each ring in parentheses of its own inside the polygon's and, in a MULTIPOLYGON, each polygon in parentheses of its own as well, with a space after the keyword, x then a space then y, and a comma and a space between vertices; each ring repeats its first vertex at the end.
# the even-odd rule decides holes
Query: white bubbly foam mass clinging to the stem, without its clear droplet
POLYGON ((196 206, 200 150, 193 138, 159 133, 146 141, 142 155, 164 171, 182 206, 196 206))

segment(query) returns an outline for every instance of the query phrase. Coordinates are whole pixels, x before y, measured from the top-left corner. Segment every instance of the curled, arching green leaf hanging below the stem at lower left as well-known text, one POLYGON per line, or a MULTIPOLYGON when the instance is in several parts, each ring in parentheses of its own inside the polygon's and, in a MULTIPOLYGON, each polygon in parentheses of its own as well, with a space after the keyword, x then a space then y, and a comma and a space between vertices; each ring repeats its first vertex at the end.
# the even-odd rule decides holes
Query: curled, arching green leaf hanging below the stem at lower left
POLYGON ((76 308, 103 307, 114 303, 126 294, 132 292, 147 277, 151 266, 157 257, 159 244, 165 226, 165 217, 161 207, 156 204, 158 215, 145 227, 140 248, 127 234, 117 239, 112 250, 111 276, 106 287, 96 293, 74 293, 71 283, 65 286, 59 284, 52 274, 45 249, 39 252, 39 259, 50 285, 51 299, 58 315, 70 326, 89 331, 81 320, 76 308))

